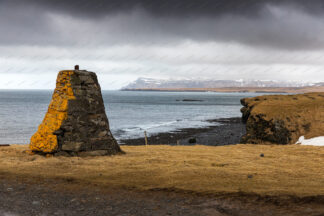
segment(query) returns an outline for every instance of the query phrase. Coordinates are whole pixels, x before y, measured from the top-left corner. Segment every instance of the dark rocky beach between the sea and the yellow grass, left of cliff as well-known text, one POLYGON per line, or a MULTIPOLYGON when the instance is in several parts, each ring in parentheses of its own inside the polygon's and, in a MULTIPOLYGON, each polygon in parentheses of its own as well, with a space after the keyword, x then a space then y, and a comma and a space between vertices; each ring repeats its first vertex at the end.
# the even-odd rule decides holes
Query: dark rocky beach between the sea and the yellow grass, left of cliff
MULTIPOLYGON (((219 125, 155 134, 148 137, 148 144, 224 146, 240 143, 241 137, 245 135, 245 125, 241 118, 222 118, 209 122, 219 125)), ((123 139, 119 142, 124 145, 145 145, 144 138, 123 139)))

